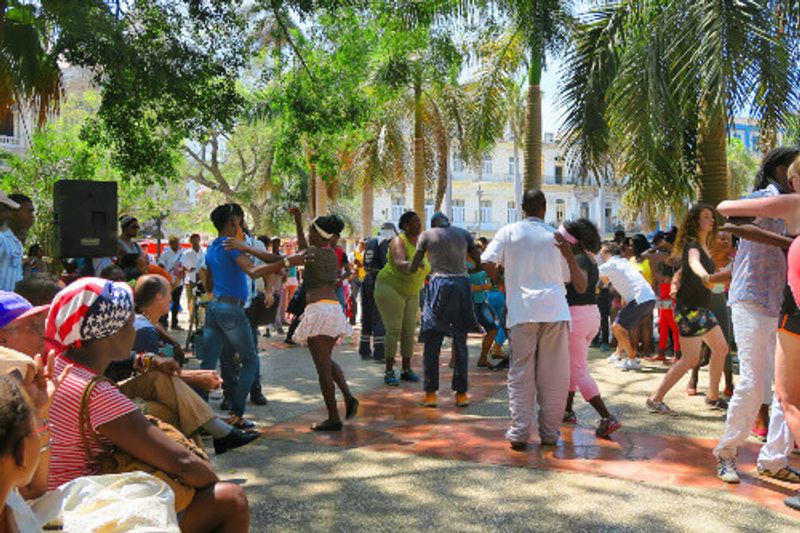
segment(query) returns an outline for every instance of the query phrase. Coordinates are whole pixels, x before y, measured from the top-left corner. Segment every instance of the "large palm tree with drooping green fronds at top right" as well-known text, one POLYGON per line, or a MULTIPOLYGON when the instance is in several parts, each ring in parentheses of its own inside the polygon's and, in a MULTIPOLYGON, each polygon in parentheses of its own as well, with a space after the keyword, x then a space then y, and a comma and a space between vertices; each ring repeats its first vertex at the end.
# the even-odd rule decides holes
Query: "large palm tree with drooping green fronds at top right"
POLYGON ((629 206, 725 199, 731 117, 749 109, 777 131, 797 107, 792 9, 624 0, 591 10, 565 65, 567 148, 595 170, 619 161, 629 206))

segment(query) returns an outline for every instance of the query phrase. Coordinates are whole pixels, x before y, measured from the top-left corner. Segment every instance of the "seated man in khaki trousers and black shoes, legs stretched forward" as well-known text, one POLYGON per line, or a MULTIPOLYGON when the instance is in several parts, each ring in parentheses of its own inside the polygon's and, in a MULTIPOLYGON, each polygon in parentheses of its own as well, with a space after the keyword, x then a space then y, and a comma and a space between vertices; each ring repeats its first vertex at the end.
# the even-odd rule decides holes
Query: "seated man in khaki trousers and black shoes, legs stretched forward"
POLYGON ((161 276, 148 274, 136 281, 133 352, 128 359, 109 364, 105 376, 128 398, 145 400, 147 414, 174 425, 187 437, 205 429, 214 438, 217 455, 256 440, 260 433, 241 431, 217 418, 189 386, 218 387, 216 372, 184 372, 174 359, 155 355, 159 345, 153 324, 168 312, 171 302, 169 284, 161 276))

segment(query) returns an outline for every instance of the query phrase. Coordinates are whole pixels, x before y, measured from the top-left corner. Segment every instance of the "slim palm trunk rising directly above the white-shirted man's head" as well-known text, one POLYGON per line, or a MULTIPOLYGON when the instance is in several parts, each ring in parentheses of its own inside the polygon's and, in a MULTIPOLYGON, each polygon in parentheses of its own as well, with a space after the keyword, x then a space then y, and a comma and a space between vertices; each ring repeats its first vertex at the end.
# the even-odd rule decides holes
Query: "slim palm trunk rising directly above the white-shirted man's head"
POLYGON ((542 188, 542 78, 541 51, 531 47, 528 96, 525 108, 525 190, 542 188))

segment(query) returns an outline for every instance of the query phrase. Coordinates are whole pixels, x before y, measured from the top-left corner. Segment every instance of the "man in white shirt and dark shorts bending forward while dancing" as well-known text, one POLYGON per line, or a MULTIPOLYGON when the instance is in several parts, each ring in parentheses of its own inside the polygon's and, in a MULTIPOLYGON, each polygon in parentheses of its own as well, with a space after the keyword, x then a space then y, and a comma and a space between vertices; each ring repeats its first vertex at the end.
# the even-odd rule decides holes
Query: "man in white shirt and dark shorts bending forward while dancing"
POLYGON ((604 284, 611 283, 625 301, 625 307, 617 313, 617 319, 611 326, 611 331, 617 339, 617 351, 611 354, 609 360, 616 360, 617 367, 623 371, 639 370, 642 363, 636 357, 630 332, 639 327, 645 317, 653 314, 656 294, 642 273, 622 257, 619 244, 603 243, 600 248, 600 258, 603 260, 599 267, 600 281, 604 284), (627 358, 622 357, 622 351, 628 355, 627 358))

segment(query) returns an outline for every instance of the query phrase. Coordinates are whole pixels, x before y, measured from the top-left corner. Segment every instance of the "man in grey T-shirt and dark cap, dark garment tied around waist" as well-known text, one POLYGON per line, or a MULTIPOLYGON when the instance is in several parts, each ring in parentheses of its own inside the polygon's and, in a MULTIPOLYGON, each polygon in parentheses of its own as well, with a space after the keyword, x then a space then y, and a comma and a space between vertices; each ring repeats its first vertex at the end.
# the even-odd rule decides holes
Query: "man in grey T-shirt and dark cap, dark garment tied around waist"
POLYGON ((481 264, 481 251, 468 231, 450 225, 443 213, 431 217, 431 229, 422 232, 417 241, 417 253, 411 262, 416 272, 425 254, 431 263, 431 278, 425 291, 420 336, 425 343, 425 407, 436 407, 439 390, 439 355, 445 336, 453 339, 455 368, 453 390, 456 405, 469 405, 467 369, 469 352, 467 334, 477 328, 472 305, 472 291, 467 273, 467 254, 476 265, 481 264))

